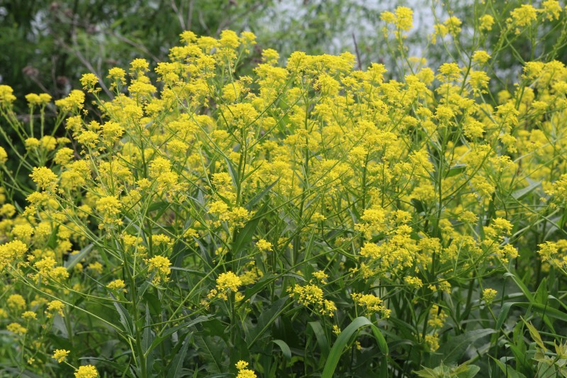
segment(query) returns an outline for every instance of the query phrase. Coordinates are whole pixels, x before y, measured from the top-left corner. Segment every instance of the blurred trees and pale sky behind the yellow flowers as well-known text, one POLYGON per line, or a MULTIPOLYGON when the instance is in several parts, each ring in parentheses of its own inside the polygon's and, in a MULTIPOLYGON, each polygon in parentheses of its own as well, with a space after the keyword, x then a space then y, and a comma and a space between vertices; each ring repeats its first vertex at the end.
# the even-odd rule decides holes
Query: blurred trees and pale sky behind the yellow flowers
MULTIPOLYGON (((526 1, 494 1, 488 9, 495 18, 526 1)), ((534 1, 541 2, 541 1, 534 1)), ((476 3, 480 4, 479 1, 476 3)), ((410 55, 427 55, 435 69, 451 61, 443 43, 428 44, 436 21, 449 13, 464 26, 473 24, 473 0, 0 0, 0 84, 13 87, 18 107, 26 113, 23 96, 47 92, 54 99, 79 87, 85 72, 105 77, 108 68, 125 67, 136 57, 152 65, 167 60, 179 33, 192 30, 198 35, 218 36, 223 29, 257 34, 257 54, 263 48, 279 50, 282 59, 291 52, 308 54, 351 51, 359 67, 370 62, 385 63, 395 76, 381 28, 380 13, 396 6, 415 11, 415 27, 407 40, 410 55), (425 53, 427 50, 427 54, 425 53)), ((476 6, 479 6, 479 5, 476 6)), ((534 4, 536 5, 536 4, 534 4)), ((484 10, 483 10, 484 11, 484 10)), ((502 17, 501 17, 502 18, 502 17)), ((487 47, 496 43, 500 26, 495 25, 487 47)), ((507 87, 517 79, 517 57, 529 60, 534 50, 554 51, 565 61, 566 30, 549 26, 549 45, 534 46, 527 38, 507 41, 507 52, 494 60, 492 69, 507 87), (560 40, 560 43, 556 41, 560 40)), ((464 28, 459 43, 471 41, 464 28)), ((466 50, 466 49, 465 49, 466 50)), ((489 51, 490 52, 490 51, 489 51)))

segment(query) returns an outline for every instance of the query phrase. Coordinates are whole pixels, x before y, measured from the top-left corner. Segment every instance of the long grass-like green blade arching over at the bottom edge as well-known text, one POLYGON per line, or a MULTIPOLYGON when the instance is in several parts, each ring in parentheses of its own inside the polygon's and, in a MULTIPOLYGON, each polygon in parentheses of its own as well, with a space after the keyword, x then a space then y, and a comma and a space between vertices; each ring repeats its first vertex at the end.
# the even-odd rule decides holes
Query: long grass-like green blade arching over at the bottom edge
MULTIPOLYGON (((332 378, 339 363, 342 352, 344 352, 344 347, 347 346, 349 340, 355 333, 358 332, 360 328, 366 326, 370 326, 370 328, 372 329, 374 337, 378 342, 378 348, 381 350, 381 352, 384 355, 388 355, 388 344, 386 344, 386 340, 384 339, 382 333, 380 333, 380 330, 378 330, 378 327, 374 326, 374 324, 372 324, 372 322, 369 321, 368 318, 359 316, 358 318, 354 319, 354 321, 352 321, 352 323, 350 323, 347 328, 344 328, 344 330, 342 330, 339 337, 337 338, 337 341, 335 341, 335 344, 332 345, 329 357, 327 358, 327 362, 325 363, 325 369, 323 369, 323 372, 321 374, 322 378, 332 378)), ((386 361, 383 360, 382 364, 385 363, 386 361)))

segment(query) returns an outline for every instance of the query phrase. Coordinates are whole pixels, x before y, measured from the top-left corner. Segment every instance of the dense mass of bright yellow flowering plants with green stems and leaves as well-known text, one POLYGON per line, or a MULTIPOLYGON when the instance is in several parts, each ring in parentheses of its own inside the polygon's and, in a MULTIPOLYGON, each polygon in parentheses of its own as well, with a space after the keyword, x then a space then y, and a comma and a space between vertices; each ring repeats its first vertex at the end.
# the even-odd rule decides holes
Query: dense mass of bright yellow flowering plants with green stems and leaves
POLYGON ((135 59, 30 94, 27 122, 0 85, 0 369, 564 372, 567 68, 542 53, 505 89, 491 69, 564 11, 490 5, 436 21, 459 51, 440 67, 408 56, 411 9, 383 13, 397 79, 348 52, 254 62, 224 30, 181 34, 155 80, 135 59))

